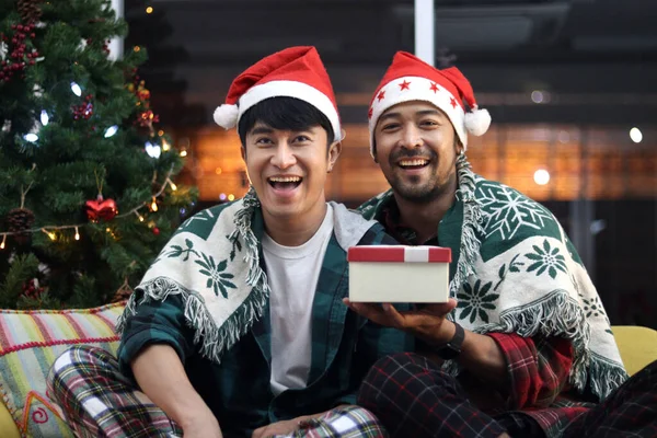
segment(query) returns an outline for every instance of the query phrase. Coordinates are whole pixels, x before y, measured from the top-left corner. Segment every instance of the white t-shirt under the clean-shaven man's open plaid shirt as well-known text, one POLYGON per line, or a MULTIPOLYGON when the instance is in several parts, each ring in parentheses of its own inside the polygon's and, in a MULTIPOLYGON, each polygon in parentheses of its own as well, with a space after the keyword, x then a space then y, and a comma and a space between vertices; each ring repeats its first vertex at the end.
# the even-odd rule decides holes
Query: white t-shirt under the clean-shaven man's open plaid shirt
POLYGON ((312 354, 312 302, 326 246, 333 233, 333 208, 318 232, 301 246, 283 246, 263 237, 269 280, 272 392, 306 388, 312 354))

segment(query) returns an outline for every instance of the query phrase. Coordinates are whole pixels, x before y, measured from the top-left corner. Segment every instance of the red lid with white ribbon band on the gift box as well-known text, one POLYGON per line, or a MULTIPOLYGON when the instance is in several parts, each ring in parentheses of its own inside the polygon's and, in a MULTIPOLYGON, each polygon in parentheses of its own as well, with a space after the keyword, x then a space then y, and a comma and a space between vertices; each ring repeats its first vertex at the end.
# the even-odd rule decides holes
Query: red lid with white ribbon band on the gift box
POLYGON ((348 262, 450 263, 451 249, 441 246, 366 245, 351 246, 348 262))

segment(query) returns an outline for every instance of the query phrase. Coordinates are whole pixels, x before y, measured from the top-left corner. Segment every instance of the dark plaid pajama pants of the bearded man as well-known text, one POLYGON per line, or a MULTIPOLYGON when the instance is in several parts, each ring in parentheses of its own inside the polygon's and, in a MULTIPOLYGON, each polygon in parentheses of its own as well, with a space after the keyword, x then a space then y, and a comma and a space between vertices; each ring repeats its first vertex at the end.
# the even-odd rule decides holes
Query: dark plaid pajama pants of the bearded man
MULTIPOLYGON (((415 354, 380 359, 366 377, 358 404, 377 415, 392 438, 545 437, 539 422, 523 413, 488 416, 468 401, 458 381, 415 354)), ((555 419, 556 420, 556 419, 555 419)), ((579 414, 550 436, 564 438, 656 438, 657 361, 603 403, 579 414)))

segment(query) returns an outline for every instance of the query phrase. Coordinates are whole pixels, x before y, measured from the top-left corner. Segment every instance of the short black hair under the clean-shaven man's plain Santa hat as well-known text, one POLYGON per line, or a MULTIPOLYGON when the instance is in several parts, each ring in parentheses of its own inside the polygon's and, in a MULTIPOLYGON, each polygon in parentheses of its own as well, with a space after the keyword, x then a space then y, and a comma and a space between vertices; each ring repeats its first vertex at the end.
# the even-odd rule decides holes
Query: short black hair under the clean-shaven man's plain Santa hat
POLYGON ((246 146, 246 132, 256 123, 263 123, 274 129, 306 130, 313 126, 321 126, 326 131, 328 145, 335 141, 333 127, 328 117, 313 105, 296 97, 279 96, 261 101, 246 110, 240 117, 238 132, 242 146, 246 146))

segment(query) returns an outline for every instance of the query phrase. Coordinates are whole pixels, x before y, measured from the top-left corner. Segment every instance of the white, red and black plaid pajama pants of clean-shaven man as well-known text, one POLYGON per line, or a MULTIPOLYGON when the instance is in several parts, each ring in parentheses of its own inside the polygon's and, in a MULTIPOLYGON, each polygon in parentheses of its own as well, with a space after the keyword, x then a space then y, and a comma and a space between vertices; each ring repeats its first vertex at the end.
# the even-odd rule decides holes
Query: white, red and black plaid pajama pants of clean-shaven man
MULTIPOLYGON (((83 438, 177 438, 180 426, 118 370, 110 353, 76 346, 55 360, 48 373, 48 395, 65 412, 69 426, 83 438)), ((337 407, 304 422, 293 434, 276 438, 387 438, 367 410, 337 407)))

